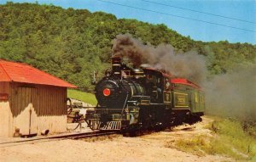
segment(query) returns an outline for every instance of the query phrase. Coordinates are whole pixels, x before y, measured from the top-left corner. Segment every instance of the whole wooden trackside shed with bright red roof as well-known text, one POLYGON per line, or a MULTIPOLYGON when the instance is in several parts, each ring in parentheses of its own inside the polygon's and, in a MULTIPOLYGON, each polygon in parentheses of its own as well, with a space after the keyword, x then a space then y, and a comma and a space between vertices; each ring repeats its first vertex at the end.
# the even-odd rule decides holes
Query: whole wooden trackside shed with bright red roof
POLYGON ((67 81, 0 59, 0 137, 67 131, 67 81))

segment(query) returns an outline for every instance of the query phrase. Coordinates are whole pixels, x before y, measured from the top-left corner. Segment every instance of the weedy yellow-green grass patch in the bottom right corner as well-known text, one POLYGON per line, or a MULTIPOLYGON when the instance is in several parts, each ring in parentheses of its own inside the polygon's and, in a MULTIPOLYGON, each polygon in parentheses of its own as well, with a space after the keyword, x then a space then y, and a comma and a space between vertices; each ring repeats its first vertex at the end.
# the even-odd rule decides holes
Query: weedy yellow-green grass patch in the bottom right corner
POLYGON ((177 140, 174 147, 199 156, 222 154, 236 160, 256 161, 255 127, 245 126, 237 120, 221 119, 214 120, 207 128, 212 131, 212 136, 177 140))

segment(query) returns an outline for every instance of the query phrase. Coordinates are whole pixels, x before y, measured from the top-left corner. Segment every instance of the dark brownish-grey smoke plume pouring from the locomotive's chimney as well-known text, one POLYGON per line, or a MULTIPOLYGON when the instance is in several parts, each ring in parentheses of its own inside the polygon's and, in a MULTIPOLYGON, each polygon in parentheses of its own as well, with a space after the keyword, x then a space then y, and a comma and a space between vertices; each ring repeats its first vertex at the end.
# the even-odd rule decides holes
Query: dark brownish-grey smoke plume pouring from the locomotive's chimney
POLYGON ((206 76, 205 58, 195 52, 176 54, 171 45, 144 45, 130 34, 118 35, 113 40, 113 55, 129 58, 135 66, 149 64, 176 77, 202 83, 206 76))

